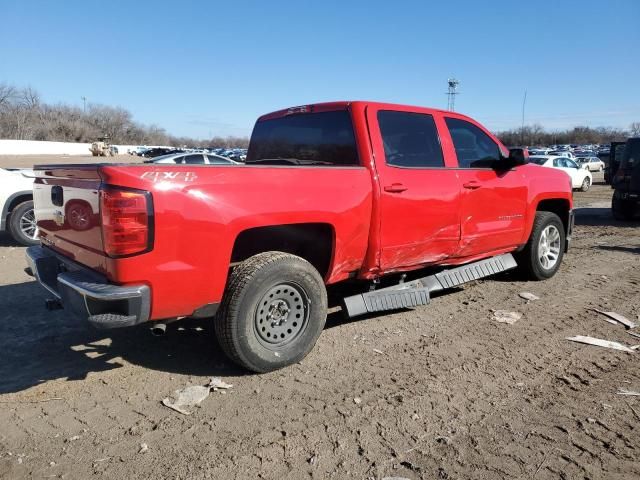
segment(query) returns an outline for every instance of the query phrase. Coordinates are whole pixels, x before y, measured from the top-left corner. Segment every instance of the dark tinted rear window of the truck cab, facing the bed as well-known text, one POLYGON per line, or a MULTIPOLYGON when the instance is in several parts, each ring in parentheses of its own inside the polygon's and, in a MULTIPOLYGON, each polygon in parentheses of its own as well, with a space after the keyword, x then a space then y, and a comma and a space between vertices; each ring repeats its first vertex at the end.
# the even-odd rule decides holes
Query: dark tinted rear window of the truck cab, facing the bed
POLYGON ((256 123, 247 165, 359 165, 347 110, 300 113, 256 123))

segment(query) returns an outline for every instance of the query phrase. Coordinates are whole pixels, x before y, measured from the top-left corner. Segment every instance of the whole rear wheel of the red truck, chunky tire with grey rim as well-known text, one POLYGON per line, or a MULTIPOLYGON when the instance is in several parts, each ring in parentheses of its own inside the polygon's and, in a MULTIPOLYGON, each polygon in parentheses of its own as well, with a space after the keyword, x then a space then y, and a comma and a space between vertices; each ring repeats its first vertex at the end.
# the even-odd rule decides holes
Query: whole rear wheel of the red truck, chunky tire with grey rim
POLYGON ((227 356, 262 373, 306 357, 326 319, 327 291, 313 265, 288 253, 266 252, 233 270, 214 321, 227 356))

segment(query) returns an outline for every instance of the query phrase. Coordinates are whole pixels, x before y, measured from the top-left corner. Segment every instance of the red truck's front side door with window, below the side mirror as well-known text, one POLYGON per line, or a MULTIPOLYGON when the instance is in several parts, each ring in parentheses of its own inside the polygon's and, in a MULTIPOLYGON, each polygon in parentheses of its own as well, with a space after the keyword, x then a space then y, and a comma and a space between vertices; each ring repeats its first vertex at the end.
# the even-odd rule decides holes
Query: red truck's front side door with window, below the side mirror
POLYGON ((478 125, 446 116, 458 159, 461 238, 456 256, 516 246, 525 231, 528 187, 522 167, 502 168, 498 143, 478 125))

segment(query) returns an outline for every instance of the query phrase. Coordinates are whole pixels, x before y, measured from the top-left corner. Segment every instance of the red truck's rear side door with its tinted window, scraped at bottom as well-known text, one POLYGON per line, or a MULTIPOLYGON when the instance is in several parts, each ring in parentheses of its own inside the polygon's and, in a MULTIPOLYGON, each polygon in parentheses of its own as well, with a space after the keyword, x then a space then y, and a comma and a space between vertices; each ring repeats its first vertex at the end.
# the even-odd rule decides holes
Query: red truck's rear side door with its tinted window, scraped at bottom
POLYGON ((446 168, 428 111, 367 109, 380 186, 380 268, 402 270, 451 256, 460 239, 460 187, 446 168))

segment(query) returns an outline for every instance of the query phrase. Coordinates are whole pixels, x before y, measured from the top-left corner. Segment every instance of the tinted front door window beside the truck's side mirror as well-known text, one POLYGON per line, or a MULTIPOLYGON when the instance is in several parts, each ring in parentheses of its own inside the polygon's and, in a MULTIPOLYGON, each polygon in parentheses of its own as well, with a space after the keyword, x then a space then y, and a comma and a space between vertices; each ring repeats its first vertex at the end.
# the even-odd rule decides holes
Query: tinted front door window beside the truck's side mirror
POLYGON ((492 168, 500 161, 500 148, 474 124, 458 118, 445 118, 460 168, 492 168))

